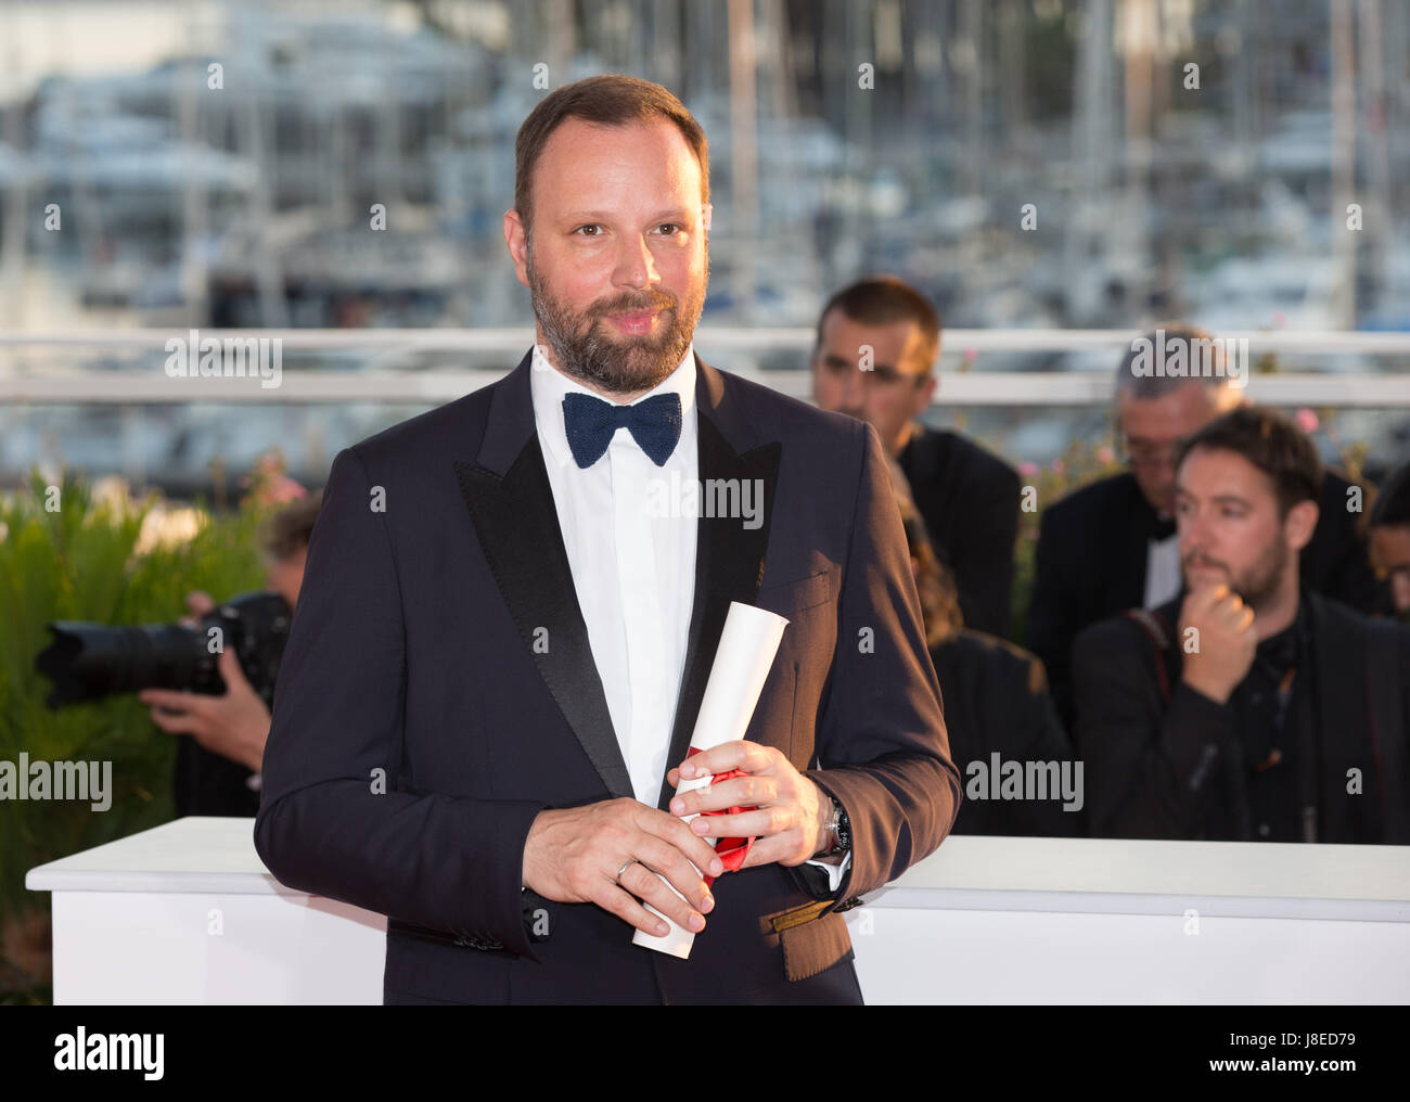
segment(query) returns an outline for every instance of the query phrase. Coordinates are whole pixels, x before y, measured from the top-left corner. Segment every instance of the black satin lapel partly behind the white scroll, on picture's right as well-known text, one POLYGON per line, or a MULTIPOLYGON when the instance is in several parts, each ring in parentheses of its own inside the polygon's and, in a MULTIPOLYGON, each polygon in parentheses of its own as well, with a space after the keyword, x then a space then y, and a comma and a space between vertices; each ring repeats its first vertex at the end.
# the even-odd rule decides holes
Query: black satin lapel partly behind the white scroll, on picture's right
MULTIPOLYGON (((719 636, 725 630, 729 603, 737 600, 753 605, 759 583, 764 576, 764 551, 768 547, 768 527, 774 517, 774 490, 778 483, 778 461, 783 444, 763 444, 743 455, 735 452, 719 428, 704 410, 699 411, 699 482, 701 503, 711 479, 759 479, 763 486, 763 523, 746 528, 743 517, 708 517, 705 509, 697 521, 695 537, 695 603, 691 610, 689 638, 685 645, 685 671, 675 702, 675 724, 671 730, 671 750, 666 771, 685 757, 705 696, 719 636)), ((675 793, 661 778, 657 807, 666 810, 675 793)))

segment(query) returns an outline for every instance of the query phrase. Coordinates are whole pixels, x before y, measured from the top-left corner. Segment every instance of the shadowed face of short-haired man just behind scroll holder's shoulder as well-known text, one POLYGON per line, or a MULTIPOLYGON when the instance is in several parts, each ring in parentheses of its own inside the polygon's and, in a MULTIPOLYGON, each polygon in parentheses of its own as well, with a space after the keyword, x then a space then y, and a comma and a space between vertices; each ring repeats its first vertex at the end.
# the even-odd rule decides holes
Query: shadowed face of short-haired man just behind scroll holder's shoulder
POLYGON ((812 399, 821 409, 870 421, 894 457, 907 426, 931 404, 931 366, 914 321, 866 326, 835 307, 822 318, 822 341, 812 355, 812 399), (863 345, 873 349, 867 371, 860 366, 863 345))

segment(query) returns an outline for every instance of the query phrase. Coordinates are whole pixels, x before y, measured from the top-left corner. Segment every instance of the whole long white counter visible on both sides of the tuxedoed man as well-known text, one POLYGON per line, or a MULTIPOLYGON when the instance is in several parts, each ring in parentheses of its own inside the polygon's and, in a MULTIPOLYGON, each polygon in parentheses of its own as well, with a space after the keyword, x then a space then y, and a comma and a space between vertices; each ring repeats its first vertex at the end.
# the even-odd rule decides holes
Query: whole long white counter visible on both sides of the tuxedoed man
MULTIPOLYGON (((386 920, 279 885, 252 823, 30 869, 54 1001, 381 1003, 386 920)), ((955 836, 846 917, 870 1003, 1410 1002, 1410 847, 955 836)))

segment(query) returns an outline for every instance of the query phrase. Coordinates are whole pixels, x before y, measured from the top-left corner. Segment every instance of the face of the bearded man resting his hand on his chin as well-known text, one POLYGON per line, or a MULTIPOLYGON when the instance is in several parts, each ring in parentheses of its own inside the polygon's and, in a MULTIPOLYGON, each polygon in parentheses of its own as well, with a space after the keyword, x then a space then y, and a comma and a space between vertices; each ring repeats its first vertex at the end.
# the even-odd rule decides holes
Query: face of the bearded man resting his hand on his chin
POLYGON ((1273 481, 1237 452, 1196 448, 1180 464, 1175 521, 1190 589, 1227 585, 1258 613, 1283 585, 1316 519, 1311 502, 1280 519, 1273 481))

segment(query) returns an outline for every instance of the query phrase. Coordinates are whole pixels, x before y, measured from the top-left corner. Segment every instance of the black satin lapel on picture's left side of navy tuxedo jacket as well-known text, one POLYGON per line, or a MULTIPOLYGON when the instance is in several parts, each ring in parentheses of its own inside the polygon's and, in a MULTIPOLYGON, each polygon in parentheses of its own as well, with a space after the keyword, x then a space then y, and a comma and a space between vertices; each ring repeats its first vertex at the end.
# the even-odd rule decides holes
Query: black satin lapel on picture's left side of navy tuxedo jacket
POLYGON ((530 434, 503 478, 467 462, 455 464, 455 475, 489 569, 544 685, 608 792, 613 798, 633 796, 572 588, 537 434, 530 434), (546 650, 543 629, 547 629, 546 650))

